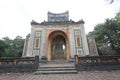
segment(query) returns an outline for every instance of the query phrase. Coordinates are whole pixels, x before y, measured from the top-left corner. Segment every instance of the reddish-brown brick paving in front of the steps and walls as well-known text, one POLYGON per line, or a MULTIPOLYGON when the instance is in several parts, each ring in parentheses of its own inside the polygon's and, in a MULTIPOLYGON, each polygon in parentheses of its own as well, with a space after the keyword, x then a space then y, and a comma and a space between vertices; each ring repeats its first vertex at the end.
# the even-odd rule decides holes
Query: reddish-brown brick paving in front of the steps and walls
POLYGON ((120 80, 117 71, 81 71, 78 74, 3 73, 0 80, 120 80))

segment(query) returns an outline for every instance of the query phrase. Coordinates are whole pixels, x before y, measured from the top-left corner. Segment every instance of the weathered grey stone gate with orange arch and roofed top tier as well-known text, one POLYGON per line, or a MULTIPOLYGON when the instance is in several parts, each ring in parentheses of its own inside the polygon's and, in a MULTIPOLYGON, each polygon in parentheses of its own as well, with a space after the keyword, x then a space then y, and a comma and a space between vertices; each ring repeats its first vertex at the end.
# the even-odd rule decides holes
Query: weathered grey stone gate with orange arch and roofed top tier
POLYGON ((31 34, 27 35, 23 56, 48 61, 56 59, 70 60, 74 55, 89 55, 89 49, 84 29, 84 21, 69 20, 69 12, 48 12, 48 21, 31 22, 31 34))

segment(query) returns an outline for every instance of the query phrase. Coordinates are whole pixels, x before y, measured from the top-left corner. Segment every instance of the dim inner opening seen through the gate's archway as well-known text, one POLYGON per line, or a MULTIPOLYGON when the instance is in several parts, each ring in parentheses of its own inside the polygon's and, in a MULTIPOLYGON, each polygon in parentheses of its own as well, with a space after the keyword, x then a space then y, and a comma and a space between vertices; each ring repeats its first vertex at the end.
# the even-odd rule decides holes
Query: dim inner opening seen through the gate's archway
POLYGON ((53 38, 53 59, 65 59, 66 42, 62 35, 53 38))

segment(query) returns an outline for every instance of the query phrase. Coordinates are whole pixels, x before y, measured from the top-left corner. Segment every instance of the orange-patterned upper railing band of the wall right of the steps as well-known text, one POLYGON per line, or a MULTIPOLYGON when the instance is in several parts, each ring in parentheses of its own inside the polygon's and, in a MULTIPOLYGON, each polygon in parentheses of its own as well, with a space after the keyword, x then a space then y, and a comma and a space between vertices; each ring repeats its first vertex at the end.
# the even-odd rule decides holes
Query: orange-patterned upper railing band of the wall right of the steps
POLYGON ((120 56, 85 56, 78 57, 78 64, 120 62, 120 56))

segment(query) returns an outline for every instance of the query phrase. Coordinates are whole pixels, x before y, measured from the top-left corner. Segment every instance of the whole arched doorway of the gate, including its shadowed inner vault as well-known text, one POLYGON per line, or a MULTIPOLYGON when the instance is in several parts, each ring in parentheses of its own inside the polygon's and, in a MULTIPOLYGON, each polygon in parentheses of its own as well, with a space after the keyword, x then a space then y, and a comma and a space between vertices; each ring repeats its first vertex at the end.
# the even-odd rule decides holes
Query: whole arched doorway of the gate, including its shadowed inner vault
POLYGON ((53 31, 49 34, 48 54, 51 60, 67 59, 68 38, 62 31, 53 31))

